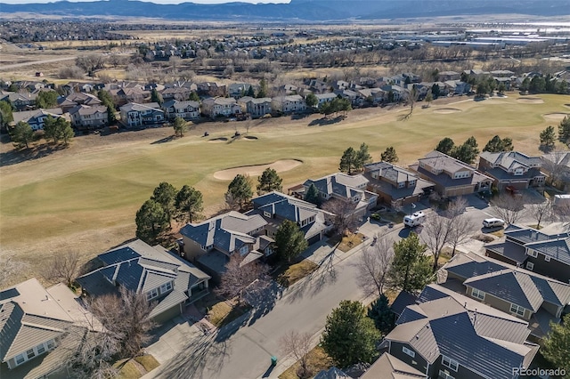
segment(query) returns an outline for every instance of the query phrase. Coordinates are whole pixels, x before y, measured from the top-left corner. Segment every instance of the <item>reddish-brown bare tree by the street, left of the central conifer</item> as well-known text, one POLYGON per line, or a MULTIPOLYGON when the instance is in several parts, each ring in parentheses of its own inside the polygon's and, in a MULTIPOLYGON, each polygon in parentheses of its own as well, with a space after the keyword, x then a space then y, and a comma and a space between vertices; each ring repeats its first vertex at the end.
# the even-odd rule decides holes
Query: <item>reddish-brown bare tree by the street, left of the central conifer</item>
POLYGON ((242 291, 256 279, 265 281, 269 268, 265 263, 250 262, 244 264, 244 258, 240 254, 232 254, 230 262, 225 265, 225 272, 220 279, 220 286, 216 293, 227 298, 239 296, 241 301, 242 291))

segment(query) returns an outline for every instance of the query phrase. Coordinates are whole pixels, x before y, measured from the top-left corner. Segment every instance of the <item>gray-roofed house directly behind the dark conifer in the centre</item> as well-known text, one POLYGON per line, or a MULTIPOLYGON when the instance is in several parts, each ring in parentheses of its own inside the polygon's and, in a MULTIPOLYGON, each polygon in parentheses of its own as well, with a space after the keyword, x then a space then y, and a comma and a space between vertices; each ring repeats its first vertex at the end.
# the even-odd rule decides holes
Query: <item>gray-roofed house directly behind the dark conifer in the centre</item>
POLYGON ((281 192, 273 191, 254 198, 252 204, 253 210, 248 214, 259 214, 264 218, 265 235, 270 238, 275 237, 281 222, 285 220, 297 223, 309 245, 322 240, 324 234, 332 228, 327 221, 331 214, 314 204, 281 192))

